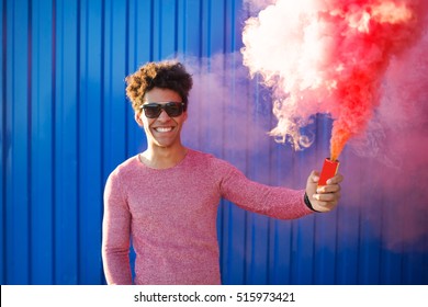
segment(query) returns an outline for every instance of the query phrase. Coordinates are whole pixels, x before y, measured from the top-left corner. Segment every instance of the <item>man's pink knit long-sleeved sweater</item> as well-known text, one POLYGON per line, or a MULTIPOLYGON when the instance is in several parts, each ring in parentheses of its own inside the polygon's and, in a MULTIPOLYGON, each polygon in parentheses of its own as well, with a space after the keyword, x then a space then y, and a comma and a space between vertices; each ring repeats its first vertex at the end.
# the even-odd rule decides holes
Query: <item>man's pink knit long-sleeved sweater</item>
POLYGON ((189 150, 176 167, 157 170, 132 157, 104 191, 102 257, 109 284, 219 284, 217 206, 221 197, 281 219, 312 213, 304 191, 248 180, 228 162, 189 150))

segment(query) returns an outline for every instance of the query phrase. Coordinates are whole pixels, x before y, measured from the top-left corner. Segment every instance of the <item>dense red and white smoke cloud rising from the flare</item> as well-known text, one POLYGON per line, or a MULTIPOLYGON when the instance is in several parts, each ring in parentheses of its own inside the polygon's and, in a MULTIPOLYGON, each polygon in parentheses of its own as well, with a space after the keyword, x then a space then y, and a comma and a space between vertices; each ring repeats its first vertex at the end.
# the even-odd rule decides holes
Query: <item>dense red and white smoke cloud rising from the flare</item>
POLYGON ((423 0, 278 0, 246 22, 241 49, 251 75, 274 90, 271 134, 296 149, 312 115, 335 120, 330 157, 365 130, 390 61, 423 31, 423 0))

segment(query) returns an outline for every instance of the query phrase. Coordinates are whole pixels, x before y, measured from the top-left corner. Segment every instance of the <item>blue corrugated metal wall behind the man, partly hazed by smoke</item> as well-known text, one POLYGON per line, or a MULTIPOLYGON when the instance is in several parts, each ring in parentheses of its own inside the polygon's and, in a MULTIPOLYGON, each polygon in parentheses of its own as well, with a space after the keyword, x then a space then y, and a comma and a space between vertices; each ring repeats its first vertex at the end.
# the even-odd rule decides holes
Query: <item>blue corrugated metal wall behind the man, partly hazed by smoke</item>
MULTIPOLYGON (((102 191, 110 171, 145 146, 124 95, 124 77, 145 61, 179 56, 195 65, 187 143, 251 179, 301 187, 328 152, 323 117, 303 152, 266 136, 274 124, 269 93, 240 75, 239 0, 0 3, 1 284, 104 283, 102 191)), ((362 177, 350 161, 359 160, 346 151, 348 184, 328 215, 279 221, 223 202, 223 282, 427 284, 428 251, 417 249, 420 240, 398 250, 384 243, 388 220, 398 218, 388 215, 391 198, 352 181, 362 177)))

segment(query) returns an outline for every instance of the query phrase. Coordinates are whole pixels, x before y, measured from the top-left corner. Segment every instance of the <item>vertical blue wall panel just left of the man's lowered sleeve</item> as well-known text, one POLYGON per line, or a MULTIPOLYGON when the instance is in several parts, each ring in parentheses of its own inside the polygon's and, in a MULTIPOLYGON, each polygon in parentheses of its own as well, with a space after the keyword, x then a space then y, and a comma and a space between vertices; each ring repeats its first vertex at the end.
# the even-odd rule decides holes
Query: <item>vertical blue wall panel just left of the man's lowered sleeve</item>
POLYGON ((79 284, 102 283, 102 1, 81 2, 79 110, 79 284), (88 272, 92 272, 88 274, 88 272), (99 272, 97 274, 97 272, 99 272))

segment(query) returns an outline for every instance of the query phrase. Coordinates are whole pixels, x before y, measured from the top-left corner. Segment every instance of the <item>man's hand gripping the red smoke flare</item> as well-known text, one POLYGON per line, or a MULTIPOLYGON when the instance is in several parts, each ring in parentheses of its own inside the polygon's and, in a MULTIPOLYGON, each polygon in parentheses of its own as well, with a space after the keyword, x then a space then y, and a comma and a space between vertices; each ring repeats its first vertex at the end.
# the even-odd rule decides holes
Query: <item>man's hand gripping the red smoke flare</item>
POLYGON ((334 209, 340 198, 340 185, 343 177, 336 174, 327 180, 327 185, 318 186, 319 173, 313 171, 307 178, 306 194, 312 207, 317 212, 329 212, 334 209))

